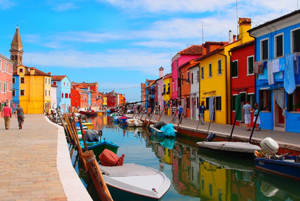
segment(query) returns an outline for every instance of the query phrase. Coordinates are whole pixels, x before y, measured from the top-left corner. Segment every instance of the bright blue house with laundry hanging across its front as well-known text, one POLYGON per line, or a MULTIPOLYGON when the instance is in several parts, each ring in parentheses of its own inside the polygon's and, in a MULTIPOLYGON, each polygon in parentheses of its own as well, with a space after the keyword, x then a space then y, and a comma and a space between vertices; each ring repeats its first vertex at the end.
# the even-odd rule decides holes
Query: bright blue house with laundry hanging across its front
POLYGON ((300 132, 300 10, 249 30, 261 128, 300 132))

